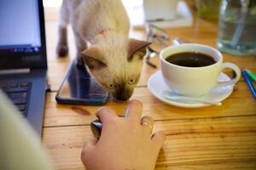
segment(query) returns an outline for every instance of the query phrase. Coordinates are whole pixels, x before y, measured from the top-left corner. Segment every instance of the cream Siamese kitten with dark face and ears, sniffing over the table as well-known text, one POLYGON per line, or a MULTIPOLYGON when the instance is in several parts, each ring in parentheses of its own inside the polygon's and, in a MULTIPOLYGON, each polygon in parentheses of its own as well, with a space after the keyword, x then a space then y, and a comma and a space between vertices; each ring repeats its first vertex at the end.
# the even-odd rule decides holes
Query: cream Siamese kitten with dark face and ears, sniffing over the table
POLYGON ((73 28, 78 64, 85 64, 114 99, 129 99, 139 80, 143 56, 150 42, 128 37, 130 21, 121 0, 63 0, 59 56, 68 53, 68 24, 73 28))

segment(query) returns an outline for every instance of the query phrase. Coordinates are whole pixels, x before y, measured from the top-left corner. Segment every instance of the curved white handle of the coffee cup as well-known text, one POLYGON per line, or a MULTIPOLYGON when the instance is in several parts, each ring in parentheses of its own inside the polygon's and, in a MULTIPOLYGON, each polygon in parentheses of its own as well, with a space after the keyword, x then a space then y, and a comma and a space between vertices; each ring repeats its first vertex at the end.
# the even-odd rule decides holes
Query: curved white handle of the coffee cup
POLYGON ((224 63, 222 65, 221 71, 223 71, 226 68, 229 68, 232 71, 235 71, 236 77, 233 78, 232 80, 228 81, 228 82, 218 82, 217 86, 221 86, 221 87, 223 87, 223 86, 230 86, 230 85, 236 84, 236 82, 239 81, 239 79, 241 77, 240 68, 237 65, 233 64, 233 63, 224 63))

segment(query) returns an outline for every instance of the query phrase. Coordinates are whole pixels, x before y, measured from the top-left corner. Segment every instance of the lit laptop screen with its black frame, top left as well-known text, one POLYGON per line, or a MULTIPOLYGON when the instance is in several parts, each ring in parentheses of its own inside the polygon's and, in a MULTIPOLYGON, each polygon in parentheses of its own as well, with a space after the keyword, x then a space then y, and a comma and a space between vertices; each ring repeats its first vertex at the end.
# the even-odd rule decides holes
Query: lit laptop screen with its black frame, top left
POLYGON ((40 0, 0 0, 0 69, 45 66, 43 14, 40 0))

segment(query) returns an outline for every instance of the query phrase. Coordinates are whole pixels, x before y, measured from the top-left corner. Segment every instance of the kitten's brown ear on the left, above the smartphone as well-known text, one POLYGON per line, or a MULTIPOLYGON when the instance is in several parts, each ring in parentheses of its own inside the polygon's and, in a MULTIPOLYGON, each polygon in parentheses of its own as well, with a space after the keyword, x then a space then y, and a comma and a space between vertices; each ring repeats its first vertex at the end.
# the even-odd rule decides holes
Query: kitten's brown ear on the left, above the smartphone
POLYGON ((90 70, 99 70, 107 67, 107 64, 102 53, 102 49, 97 45, 92 45, 81 53, 84 63, 90 70))

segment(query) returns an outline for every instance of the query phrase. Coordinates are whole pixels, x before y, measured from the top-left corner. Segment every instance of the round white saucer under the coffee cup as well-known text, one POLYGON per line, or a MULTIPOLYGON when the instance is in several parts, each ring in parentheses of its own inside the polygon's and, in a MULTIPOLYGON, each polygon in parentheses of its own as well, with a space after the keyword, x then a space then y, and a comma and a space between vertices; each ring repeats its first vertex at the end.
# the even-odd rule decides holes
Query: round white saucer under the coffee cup
MULTIPOLYGON (((220 73, 218 77, 218 82, 226 82, 230 81, 230 77, 225 75, 223 72, 220 73)), ((206 107, 209 106, 209 104, 202 104, 202 103, 189 103, 186 101, 172 101, 165 99, 163 97, 162 92, 164 90, 171 90, 167 87, 166 82, 164 81, 162 74, 160 71, 155 72, 148 80, 148 88, 150 92, 161 101, 165 102, 169 105, 175 105, 177 107, 186 107, 186 108, 197 108, 197 107, 206 107)), ((212 90, 209 92, 209 94, 205 95, 203 98, 205 99, 212 99, 214 101, 222 101, 230 96, 233 92, 234 86, 226 86, 226 87, 218 87, 218 88, 212 88, 212 90)))

